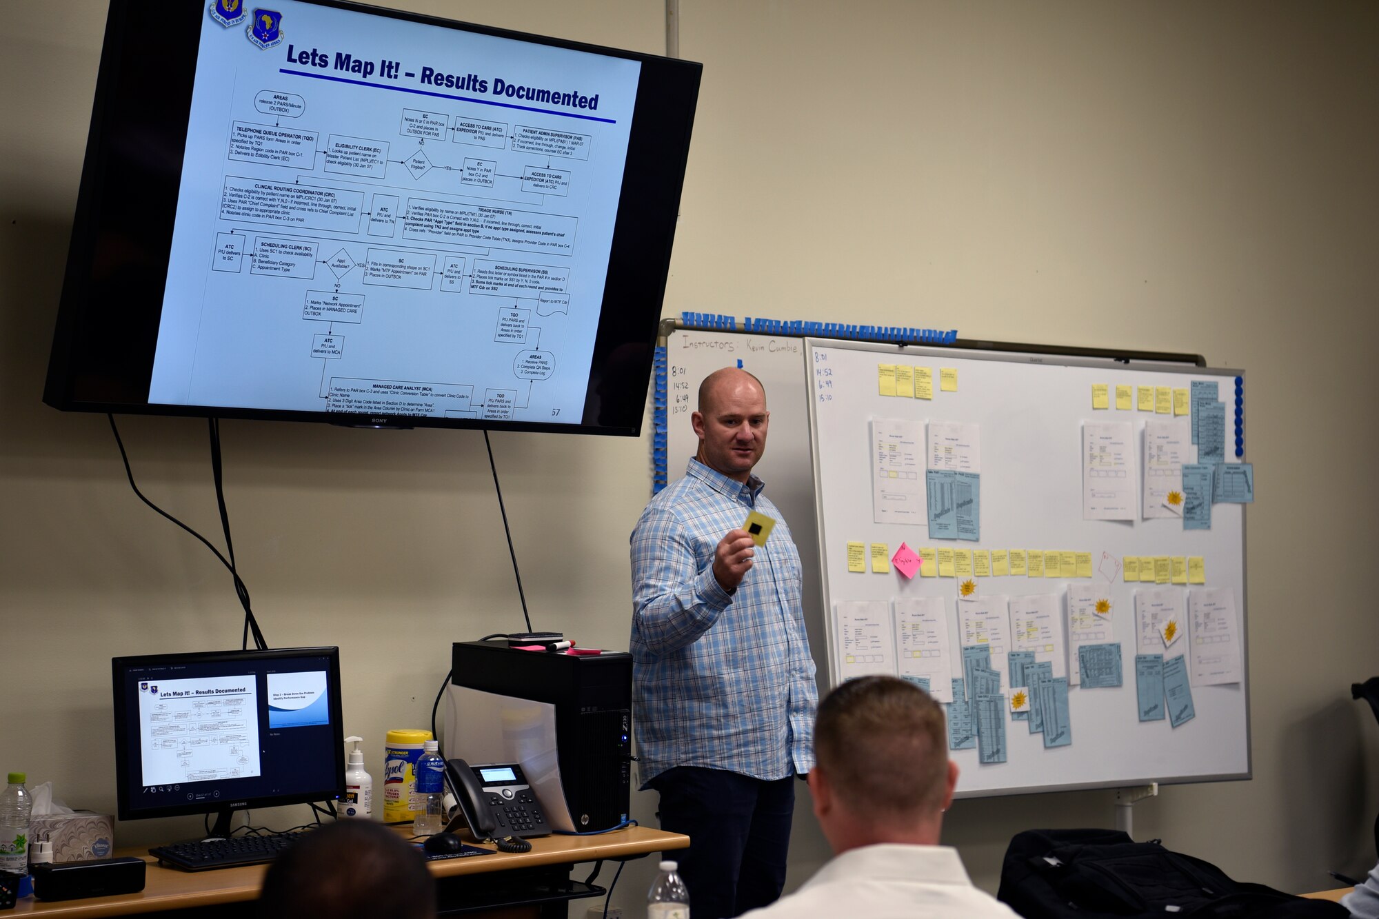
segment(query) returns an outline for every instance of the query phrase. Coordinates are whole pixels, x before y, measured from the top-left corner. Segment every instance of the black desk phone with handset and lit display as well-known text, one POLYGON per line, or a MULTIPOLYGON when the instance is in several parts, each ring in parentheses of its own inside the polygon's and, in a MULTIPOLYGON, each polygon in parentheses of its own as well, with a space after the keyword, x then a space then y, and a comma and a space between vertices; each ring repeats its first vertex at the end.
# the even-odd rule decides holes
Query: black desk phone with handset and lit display
MULTIPOLYGON (((550 833, 536 795, 517 763, 470 766, 462 759, 451 759, 445 763, 445 774, 474 839, 492 839, 502 851, 527 851, 531 843, 523 836, 550 833)), ((456 822, 458 818, 451 821, 456 822)))

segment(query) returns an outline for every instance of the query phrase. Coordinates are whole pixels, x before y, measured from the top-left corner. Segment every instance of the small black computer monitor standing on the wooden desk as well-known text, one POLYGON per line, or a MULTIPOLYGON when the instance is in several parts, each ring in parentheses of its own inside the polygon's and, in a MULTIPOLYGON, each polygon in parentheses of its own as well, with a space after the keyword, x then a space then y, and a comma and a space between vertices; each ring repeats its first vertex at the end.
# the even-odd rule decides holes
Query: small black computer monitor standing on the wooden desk
POLYGON ((345 792, 338 647, 110 661, 120 820, 334 800, 345 792))

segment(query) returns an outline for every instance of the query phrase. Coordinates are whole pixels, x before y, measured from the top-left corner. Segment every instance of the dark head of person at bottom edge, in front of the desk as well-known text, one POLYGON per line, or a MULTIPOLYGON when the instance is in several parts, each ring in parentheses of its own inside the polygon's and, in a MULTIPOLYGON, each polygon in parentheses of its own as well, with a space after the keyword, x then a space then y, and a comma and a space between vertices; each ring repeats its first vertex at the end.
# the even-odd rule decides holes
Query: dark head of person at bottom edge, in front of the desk
POLYGON ((341 820, 308 832, 273 860, 259 894, 262 919, 430 919, 436 882, 396 832, 341 820))

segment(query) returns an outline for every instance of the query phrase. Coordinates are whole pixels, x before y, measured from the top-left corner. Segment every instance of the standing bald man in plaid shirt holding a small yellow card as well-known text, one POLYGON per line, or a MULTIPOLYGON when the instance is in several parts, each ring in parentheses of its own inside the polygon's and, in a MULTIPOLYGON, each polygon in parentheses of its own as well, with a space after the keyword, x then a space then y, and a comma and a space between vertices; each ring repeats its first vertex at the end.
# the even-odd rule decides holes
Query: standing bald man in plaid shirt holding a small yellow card
POLYGON ((793 777, 814 766, 818 689, 800 602, 800 553, 752 475, 767 397, 724 368, 699 386, 699 450, 632 534, 633 706, 643 788, 680 862, 695 919, 775 901, 785 885, 793 777), (757 546, 746 526, 774 519, 757 546))

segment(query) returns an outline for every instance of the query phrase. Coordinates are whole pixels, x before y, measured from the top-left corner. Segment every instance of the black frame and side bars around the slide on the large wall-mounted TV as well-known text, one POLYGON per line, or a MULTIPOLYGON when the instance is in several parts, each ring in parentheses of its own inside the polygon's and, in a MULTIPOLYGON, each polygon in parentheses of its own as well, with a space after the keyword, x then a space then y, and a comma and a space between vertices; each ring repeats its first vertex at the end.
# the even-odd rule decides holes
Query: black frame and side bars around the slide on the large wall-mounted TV
POLYGON ((110 0, 43 400, 63 411, 638 436, 702 65, 349 0, 296 1, 643 65, 579 424, 149 403, 199 34, 207 17, 204 3, 153 0, 110 0), (159 36, 156 55, 149 48, 150 34, 159 36), (160 106, 146 102, 154 92, 167 110, 163 116, 157 115, 160 106), (131 208, 121 201, 137 195, 154 201, 156 214, 141 224, 142 244, 131 246, 121 237, 128 232, 124 225, 131 208), (112 257, 119 261, 112 264, 112 257), (160 273, 146 280, 138 273, 141 268, 160 273), (137 277, 117 276, 120 272, 137 277), (611 375, 604 379, 604 374, 611 375), (623 396, 608 418, 592 417, 600 385, 623 396))

